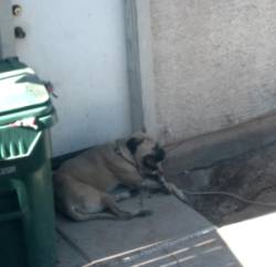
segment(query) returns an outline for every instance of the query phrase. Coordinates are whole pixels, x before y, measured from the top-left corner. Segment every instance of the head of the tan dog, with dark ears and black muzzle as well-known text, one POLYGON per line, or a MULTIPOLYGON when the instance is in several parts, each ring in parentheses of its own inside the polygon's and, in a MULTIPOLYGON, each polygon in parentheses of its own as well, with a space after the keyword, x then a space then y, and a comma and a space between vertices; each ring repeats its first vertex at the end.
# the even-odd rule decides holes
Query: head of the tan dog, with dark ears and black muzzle
POLYGON ((126 146, 144 174, 158 174, 166 152, 157 141, 144 132, 137 132, 127 140, 126 146))

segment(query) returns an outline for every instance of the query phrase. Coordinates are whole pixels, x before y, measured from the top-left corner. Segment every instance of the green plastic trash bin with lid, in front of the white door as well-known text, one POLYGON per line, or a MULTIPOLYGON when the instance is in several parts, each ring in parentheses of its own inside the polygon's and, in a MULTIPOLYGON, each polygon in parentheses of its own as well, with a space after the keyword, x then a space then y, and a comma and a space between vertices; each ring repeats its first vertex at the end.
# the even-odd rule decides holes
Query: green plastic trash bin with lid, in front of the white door
POLYGON ((17 58, 0 61, 0 266, 53 267, 50 127, 43 83, 17 58))

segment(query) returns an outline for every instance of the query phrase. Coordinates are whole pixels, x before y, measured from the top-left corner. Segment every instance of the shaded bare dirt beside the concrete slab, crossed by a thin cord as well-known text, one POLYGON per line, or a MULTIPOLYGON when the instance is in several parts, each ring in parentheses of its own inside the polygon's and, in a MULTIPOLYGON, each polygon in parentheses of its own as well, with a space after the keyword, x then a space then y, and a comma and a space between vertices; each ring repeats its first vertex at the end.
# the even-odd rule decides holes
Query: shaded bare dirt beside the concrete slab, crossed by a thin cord
POLYGON ((193 207, 219 226, 269 214, 276 211, 276 145, 171 180, 191 191, 222 191, 264 203, 222 194, 188 195, 193 207))

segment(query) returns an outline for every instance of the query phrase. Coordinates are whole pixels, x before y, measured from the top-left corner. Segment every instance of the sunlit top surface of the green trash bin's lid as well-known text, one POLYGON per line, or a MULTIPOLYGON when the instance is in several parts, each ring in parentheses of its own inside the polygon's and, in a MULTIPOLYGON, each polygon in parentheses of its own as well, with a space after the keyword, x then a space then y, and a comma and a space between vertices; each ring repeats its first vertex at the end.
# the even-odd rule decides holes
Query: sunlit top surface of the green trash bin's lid
POLYGON ((0 116, 50 100, 45 86, 29 67, 0 73, 0 116))

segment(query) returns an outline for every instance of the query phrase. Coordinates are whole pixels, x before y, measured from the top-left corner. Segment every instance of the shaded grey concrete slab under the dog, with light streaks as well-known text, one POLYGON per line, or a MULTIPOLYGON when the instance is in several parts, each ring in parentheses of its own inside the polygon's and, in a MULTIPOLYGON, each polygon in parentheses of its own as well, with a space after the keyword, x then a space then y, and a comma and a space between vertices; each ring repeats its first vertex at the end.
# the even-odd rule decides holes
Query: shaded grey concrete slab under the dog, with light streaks
MULTIPOLYGON (((121 203, 138 207, 139 200, 121 203)), ((241 266, 216 228, 173 196, 145 200, 153 215, 74 223, 57 216, 57 267, 241 266)))

